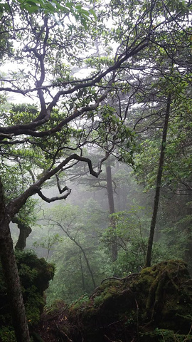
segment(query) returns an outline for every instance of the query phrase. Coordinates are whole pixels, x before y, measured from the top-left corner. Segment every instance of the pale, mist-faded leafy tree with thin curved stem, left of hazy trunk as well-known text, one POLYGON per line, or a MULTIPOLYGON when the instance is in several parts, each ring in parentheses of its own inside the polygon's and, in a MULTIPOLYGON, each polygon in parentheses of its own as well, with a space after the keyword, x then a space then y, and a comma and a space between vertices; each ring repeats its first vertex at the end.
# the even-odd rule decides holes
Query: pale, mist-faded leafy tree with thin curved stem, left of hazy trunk
POLYGON ((98 235, 102 230, 102 216, 102 208, 94 200, 88 200, 81 207, 65 204, 44 210, 40 222, 45 222, 52 234, 59 234, 61 238, 50 259, 56 271, 48 301, 56 296, 74 301, 82 294, 90 294, 100 284, 103 259, 98 235))

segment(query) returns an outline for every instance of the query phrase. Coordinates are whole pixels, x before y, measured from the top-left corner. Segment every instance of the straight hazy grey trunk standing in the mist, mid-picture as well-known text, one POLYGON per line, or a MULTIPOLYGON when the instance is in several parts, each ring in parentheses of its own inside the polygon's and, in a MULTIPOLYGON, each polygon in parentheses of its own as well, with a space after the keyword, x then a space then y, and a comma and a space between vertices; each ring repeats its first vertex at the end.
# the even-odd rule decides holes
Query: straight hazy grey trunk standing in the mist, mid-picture
MULTIPOLYGON (((106 167, 107 175, 107 195, 110 207, 110 214, 114 214, 114 197, 113 197, 113 187, 112 187, 112 168, 110 165, 106 167)), ((112 243, 112 261, 117 260, 117 236, 116 236, 116 225, 113 217, 110 218, 110 225, 114 229, 114 241, 112 243)))

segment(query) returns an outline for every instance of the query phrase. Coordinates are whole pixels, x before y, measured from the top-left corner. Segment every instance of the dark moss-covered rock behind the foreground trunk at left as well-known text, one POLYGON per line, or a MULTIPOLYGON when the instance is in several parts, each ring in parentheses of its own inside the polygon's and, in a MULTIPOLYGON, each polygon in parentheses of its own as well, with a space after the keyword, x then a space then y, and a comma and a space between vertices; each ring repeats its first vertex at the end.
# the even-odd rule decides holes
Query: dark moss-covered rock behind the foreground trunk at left
MULTIPOLYGON (((16 252, 18 274, 21 280, 23 300, 29 326, 34 326, 40 320, 46 304, 43 292, 48 288, 48 281, 53 279, 54 266, 45 259, 38 259, 32 252, 16 252)), ((11 308, 6 295, 6 284, 0 264, 0 341, 12 341, 11 308), (2 331, 6 330, 6 333, 2 331), (1 337, 3 334, 4 338, 1 337)), ((14 341, 14 340, 13 340, 14 341)))

